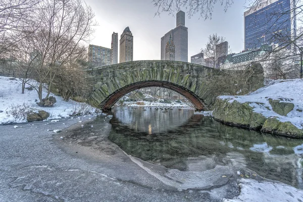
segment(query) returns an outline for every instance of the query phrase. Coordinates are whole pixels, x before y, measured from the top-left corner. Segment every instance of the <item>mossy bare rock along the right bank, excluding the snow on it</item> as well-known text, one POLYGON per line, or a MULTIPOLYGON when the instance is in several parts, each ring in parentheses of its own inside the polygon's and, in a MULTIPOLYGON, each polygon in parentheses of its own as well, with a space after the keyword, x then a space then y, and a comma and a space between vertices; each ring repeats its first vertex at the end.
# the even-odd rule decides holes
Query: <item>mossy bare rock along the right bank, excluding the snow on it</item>
MULTIPOLYGON (((263 103, 239 103, 236 100, 218 97, 214 106, 213 117, 217 121, 233 126, 292 138, 303 137, 303 130, 295 127, 291 122, 282 122, 278 117, 267 118, 254 112, 254 108, 250 104, 264 105, 263 103)), ((292 103, 283 103, 280 100, 271 99, 270 104, 273 111, 282 116, 286 116, 293 110, 292 103)))

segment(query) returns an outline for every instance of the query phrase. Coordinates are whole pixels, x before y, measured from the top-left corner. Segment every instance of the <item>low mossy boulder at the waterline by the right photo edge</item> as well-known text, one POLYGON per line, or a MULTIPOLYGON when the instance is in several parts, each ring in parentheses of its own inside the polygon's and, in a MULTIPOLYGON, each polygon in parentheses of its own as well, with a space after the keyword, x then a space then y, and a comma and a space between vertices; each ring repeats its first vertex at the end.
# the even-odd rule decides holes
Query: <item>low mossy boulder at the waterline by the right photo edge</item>
POLYGON ((261 132, 271 133, 271 134, 281 135, 286 137, 294 137, 294 138, 303 137, 302 129, 298 129, 290 122, 280 122, 275 117, 268 118, 265 121, 261 129, 261 132))

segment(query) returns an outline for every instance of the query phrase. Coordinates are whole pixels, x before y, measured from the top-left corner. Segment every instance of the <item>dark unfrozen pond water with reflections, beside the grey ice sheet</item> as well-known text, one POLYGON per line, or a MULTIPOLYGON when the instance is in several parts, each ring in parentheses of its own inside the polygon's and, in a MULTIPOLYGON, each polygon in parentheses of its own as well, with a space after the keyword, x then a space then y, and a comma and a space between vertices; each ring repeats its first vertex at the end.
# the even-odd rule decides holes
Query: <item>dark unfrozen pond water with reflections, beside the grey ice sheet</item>
MULTIPOLYGON (((167 120, 156 121, 157 126, 174 124, 170 119, 175 117, 183 120, 184 115, 180 114, 177 111, 167 115, 167 120)), ((119 121, 124 120, 123 124, 113 119, 109 139, 127 154, 169 168, 198 170, 200 167, 212 169, 216 165, 246 166, 261 176, 303 188, 302 176, 298 172, 300 157, 293 151, 293 147, 301 144, 300 140, 230 127, 200 115, 191 116, 183 124, 175 124, 174 129, 166 133, 148 135, 151 120, 163 119, 161 115, 148 119, 148 115, 129 114, 129 118, 139 125, 146 124, 135 128, 126 124, 126 117, 119 118, 119 121), (145 118, 147 120, 142 120, 145 118)))

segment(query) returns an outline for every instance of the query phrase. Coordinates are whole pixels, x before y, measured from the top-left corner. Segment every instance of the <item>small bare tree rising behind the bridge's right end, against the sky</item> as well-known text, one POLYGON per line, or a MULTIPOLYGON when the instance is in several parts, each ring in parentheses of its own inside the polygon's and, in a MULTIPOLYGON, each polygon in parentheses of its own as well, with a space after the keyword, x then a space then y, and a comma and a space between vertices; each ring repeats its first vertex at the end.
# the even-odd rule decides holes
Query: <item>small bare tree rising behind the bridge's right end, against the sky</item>
POLYGON ((216 50, 217 45, 224 42, 225 38, 222 36, 218 36, 217 33, 210 35, 206 47, 201 49, 201 52, 204 53, 204 58, 208 61, 211 61, 211 67, 216 67, 216 50))

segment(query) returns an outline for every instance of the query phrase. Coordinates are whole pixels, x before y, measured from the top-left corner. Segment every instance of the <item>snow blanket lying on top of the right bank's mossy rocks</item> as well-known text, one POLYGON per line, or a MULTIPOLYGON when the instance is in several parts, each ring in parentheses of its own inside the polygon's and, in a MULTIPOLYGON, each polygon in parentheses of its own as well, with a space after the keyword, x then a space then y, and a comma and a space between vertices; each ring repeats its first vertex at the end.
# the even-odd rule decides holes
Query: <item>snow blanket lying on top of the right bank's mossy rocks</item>
POLYGON ((254 108, 255 112, 265 117, 277 117, 281 122, 289 121, 297 128, 303 129, 303 79, 279 80, 277 83, 274 82, 274 84, 260 88, 249 95, 224 95, 220 98, 229 99, 230 103, 234 100, 239 103, 251 102, 249 105, 254 108), (272 110, 269 98, 293 103, 294 108, 287 116, 281 116, 272 110))

